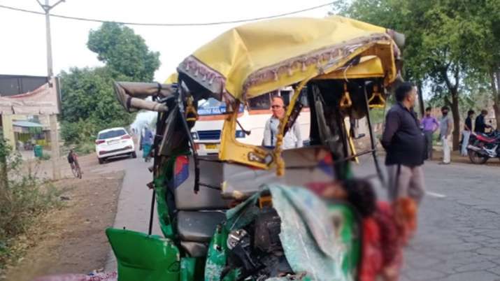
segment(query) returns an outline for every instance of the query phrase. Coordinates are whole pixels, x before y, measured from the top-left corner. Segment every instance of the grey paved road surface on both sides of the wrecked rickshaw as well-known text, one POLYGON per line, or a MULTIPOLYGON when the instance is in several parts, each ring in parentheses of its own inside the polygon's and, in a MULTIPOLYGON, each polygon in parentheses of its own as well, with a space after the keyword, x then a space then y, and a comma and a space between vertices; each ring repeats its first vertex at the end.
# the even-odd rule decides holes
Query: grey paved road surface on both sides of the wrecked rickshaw
MULTIPOLYGON (((148 166, 141 159, 103 166, 126 171, 115 227, 148 231, 148 166)), ((357 170, 369 175, 373 163, 363 159, 357 170)), ((417 236, 406 250, 401 280, 500 280, 500 167, 430 162, 424 171, 427 196, 420 208, 417 236)), ((159 234, 155 222, 153 233, 159 234)), ((106 269, 114 267, 110 259, 106 269)))

